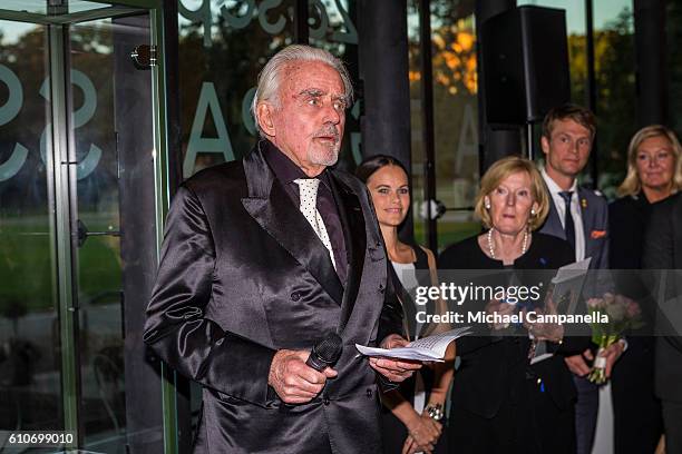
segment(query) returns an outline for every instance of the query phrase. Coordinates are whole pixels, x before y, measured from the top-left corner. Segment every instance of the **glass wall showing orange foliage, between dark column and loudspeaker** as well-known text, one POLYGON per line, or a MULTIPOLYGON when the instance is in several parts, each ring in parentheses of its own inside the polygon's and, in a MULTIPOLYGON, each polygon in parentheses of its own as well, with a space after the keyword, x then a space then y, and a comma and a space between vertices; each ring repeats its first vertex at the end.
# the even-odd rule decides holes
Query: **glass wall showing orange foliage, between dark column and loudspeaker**
POLYGON ((432 0, 430 4, 433 102, 422 99, 419 8, 408 2, 410 98, 412 118, 412 184, 415 236, 426 244, 421 217, 425 196, 426 149, 423 109, 433 114, 436 198, 446 207, 438 219, 438 246, 444 248, 476 234, 480 225, 471 206, 478 189, 478 100, 474 3, 432 0))

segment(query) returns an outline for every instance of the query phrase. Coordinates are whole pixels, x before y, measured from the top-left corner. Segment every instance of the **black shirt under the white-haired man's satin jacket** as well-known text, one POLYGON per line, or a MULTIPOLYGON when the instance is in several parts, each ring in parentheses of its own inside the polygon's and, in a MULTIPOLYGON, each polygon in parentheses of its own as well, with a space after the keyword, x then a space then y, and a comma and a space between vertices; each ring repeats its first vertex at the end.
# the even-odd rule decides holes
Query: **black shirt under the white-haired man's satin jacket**
MULTIPOLYGON (((301 204, 299 196, 299 185, 294 180, 299 178, 309 178, 299 166, 294 164, 286 155, 284 155, 271 141, 263 140, 263 156, 265 161, 275 174, 276 179, 284 186, 284 190, 291 197, 298 208, 301 204)), ((316 207, 329 234, 329 240, 334 251, 334 260, 337 261, 337 275, 342 285, 345 285, 348 274, 348 257, 345 255, 345 240, 343 239, 343 229, 341 228, 341 218, 339 217, 339 208, 332 193, 332 181, 329 175, 329 169, 324 169, 318 176, 320 187, 318 188, 316 207)), ((302 216, 302 215, 301 215, 302 216)))

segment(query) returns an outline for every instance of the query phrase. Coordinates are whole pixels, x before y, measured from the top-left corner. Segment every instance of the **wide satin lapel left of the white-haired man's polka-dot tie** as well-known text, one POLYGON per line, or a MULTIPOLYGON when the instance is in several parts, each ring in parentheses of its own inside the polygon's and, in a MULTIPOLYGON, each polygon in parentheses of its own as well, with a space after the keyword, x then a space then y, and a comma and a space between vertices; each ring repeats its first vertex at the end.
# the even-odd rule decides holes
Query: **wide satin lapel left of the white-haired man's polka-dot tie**
POLYGON ((249 197, 242 205, 246 211, 341 305, 343 287, 329 251, 275 178, 260 146, 244 158, 244 174, 249 197))

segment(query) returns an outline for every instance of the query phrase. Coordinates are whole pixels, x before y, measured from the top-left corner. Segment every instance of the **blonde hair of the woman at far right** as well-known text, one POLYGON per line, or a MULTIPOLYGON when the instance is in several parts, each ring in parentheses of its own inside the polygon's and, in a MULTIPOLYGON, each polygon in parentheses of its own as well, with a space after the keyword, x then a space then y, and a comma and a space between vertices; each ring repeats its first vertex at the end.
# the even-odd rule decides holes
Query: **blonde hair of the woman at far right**
POLYGON ((627 147, 627 175, 625 179, 618 186, 618 196, 634 196, 642 190, 642 180, 637 175, 637 149, 642 142, 652 137, 664 137, 670 141, 672 146, 673 157, 675 159, 672 191, 676 193, 682 188, 682 146, 675 134, 662 125, 645 126, 632 136, 630 146, 627 147))

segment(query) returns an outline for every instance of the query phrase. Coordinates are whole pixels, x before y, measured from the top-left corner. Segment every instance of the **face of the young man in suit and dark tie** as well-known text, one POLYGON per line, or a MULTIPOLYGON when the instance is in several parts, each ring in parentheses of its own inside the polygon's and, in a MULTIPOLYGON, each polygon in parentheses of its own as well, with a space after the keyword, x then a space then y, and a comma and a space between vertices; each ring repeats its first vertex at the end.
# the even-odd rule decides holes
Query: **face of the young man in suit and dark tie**
POLYGON ((556 120, 552 137, 543 136, 542 146, 547 172, 575 178, 590 158, 592 135, 590 129, 571 119, 556 120))

